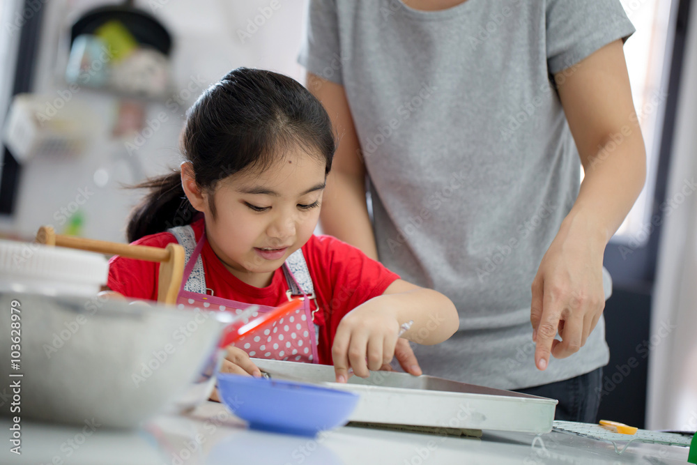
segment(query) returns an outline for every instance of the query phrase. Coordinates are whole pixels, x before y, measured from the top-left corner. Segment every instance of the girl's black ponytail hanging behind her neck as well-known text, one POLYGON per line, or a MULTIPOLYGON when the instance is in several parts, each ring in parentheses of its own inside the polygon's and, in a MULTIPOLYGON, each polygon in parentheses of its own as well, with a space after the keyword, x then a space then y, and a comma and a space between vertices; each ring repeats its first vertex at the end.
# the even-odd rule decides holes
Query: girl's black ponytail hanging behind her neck
POLYGON ((136 241, 148 234, 166 231, 174 226, 189 224, 198 213, 184 194, 178 170, 164 176, 148 178, 132 187, 149 189, 150 192, 135 206, 128 219, 128 242, 136 241))

